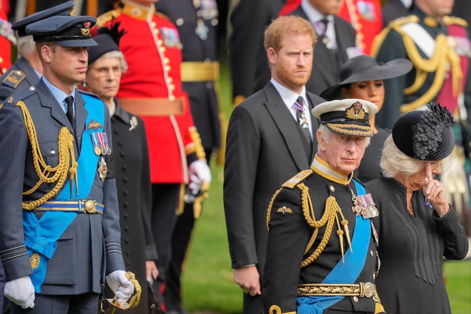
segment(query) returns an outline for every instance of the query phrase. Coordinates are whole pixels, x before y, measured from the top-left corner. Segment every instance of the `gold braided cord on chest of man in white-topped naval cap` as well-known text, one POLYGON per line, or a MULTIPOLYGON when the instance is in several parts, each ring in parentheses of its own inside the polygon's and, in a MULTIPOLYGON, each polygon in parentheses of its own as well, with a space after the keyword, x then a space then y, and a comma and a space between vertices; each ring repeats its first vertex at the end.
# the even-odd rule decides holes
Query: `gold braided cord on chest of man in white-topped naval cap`
POLYGON ((304 183, 298 184, 297 187, 301 190, 301 203, 302 203, 304 218, 306 219, 308 224, 314 228, 314 234, 311 237, 311 240, 309 241, 304 254, 306 254, 313 246, 317 233, 319 232, 319 228, 327 224, 324 235, 322 236, 322 240, 320 241, 319 245, 314 250, 313 254, 311 254, 311 256, 309 256, 307 259, 301 262, 301 267, 308 266, 309 264, 314 262, 314 260, 317 259, 319 255, 322 253, 325 246, 327 245, 327 242, 329 241, 330 235, 332 234, 334 221, 336 221, 337 223, 337 229, 338 229, 337 235, 339 236, 339 243, 340 243, 342 261, 343 261, 343 235, 344 234, 347 237, 348 244, 350 245, 350 250, 352 250, 352 248, 350 244, 350 235, 348 231, 348 221, 343 217, 342 211, 339 207, 339 204, 337 204, 335 197, 329 196, 327 198, 326 203, 325 203, 324 214, 322 215, 322 218, 320 220, 316 221, 314 217, 313 203, 311 201, 311 196, 309 195, 309 187, 304 185, 304 183), (339 217, 337 216, 337 212, 339 212, 340 217, 342 219, 341 225, 343 226, 343 230, 340 227, 340 222, 339 222, 339 217))

